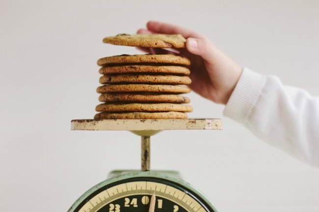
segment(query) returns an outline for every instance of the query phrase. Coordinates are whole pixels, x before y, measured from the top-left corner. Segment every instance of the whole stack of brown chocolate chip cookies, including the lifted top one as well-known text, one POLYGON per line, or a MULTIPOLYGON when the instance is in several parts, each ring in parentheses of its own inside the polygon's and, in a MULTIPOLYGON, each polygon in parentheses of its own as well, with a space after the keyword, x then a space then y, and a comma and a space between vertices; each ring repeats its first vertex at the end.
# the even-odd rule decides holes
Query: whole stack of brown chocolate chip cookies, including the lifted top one
MULTIPOLYGON (((133 47, 185 47, 180 35, 127 35, 106 37, 105 43, 133 47)), ((191 83, 190 61, 172 54, 118 55, 101 58, 102 86, 95 119, 187 118, 191 83)))

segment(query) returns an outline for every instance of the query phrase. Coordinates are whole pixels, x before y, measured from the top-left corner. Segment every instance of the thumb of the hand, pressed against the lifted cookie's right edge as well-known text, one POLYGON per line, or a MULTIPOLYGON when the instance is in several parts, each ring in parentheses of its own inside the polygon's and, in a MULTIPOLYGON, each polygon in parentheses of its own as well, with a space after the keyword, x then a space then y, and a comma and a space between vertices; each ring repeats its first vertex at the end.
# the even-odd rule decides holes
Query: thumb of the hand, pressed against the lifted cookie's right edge
POLYGON ((213 62, 214 45, 205 38, 187 38, 186 48, 190 53, 201 56, 207 62, 213 62))

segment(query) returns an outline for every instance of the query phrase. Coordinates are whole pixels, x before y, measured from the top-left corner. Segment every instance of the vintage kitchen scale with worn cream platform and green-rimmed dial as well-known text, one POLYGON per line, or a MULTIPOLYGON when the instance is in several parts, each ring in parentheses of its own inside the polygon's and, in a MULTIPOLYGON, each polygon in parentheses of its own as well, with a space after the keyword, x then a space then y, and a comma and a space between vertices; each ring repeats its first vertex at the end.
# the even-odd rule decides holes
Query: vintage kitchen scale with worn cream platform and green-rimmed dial
POLYGON ((217 212, 177 171, 150 170, 150 139, 163 130, 221 130, 221 119, 77 119, 71 130, 126 130, 141 137, 141 170, 112 171, 68 212, 217 212))

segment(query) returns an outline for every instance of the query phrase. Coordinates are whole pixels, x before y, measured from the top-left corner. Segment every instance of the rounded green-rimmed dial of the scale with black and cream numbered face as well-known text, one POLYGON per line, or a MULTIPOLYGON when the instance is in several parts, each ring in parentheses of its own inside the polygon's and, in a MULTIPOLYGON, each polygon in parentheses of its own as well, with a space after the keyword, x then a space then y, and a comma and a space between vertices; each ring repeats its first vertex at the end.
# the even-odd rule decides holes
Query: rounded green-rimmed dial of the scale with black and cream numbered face
POLYGON ((197 189, 157 172, 110 178, 84 193, 68 212, 217 212, 197 189), (152 198, 153 196, 153 198, 152 198))

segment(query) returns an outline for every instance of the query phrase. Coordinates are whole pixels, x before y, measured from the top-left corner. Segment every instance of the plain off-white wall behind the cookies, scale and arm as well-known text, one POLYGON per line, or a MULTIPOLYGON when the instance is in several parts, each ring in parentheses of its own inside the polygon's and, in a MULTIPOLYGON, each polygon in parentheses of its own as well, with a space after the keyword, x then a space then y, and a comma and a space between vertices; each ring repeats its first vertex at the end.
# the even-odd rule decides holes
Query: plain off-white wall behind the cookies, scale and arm
MULTIPOLYGON (((138 136, 70 121, 96 113, 99 58, 141 53, 102 39, 148 20, 203 33, 241 66, 319 95, 317 0, 0 0, 0 211, 66 212, 111 170, 140 168, 138 136)), ((224 129, 152 137, 153 169, 179 170, 220 212, 319 211, 318 168, 188 96, 189 118, 224 129)))

